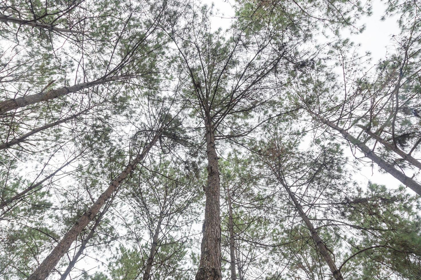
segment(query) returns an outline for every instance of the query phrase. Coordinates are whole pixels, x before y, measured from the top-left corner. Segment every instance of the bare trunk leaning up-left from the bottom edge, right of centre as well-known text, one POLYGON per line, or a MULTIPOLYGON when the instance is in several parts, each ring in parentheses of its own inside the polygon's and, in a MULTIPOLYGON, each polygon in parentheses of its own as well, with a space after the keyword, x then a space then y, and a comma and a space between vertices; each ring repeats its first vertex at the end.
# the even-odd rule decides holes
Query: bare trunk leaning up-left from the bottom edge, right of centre
POLYGON ((275 173, 277 179, 279 180, 279 182, 284 186, 285 190, 288 192, 288 195, 291 198, 291 200, 293 201, 293 204, 294 204, 295 208, 297 209, 298 214, 300 215, 301 219, 303 219, 307 228, 310 230, 312 239, 313 239, 314 243, 316 243, 316 249, 317 249, 317 251, 319 251, 319 253, 322 255, 325 262, 328 264, 328 266, 330 268, 330 271, 333 274, 333 277, 336 280, 344 280, 344 278, 342 277, 341 271, 338 270, 335 262, 333 262, 333 259, 330 256, 330 252, 329 252, 328 248, 325 246, 325 243, 323 242, 322 238, 320 238, 319 233, 317 233, 317 230, 314 229, 314 226, 313 226, 312 222, 307 217, 306 213, 304 212, 303 208, 301 207, 301 204, 298 202, 298 200, 296 199, 295 195, 290 190, 290 188, 285 183, 283 183, 282 178, 280 178, 279 174, 277 173, 277 170, 275 170, 273 167, 272 167, 272 170, 274 171, 274 173, 275 173))

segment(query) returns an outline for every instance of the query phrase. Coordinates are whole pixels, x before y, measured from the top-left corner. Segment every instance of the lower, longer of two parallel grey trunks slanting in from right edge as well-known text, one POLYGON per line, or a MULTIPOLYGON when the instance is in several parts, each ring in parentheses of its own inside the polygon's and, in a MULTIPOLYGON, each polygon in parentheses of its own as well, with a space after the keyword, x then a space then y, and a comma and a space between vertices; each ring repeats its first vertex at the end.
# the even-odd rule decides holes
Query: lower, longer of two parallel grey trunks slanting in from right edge
POLYGON ((367 147, 365 144, 363 144, 358 139, 355 139, 351 134, 348 133, 345 129, 342 129, 338 126, 336 126, 334 123, 330 122, 329 120, 326 120, 322 118, 320 115, 317 115, 316 113, 310 112, 312 115, 317 117, 322 123, 330 126, 331 128, 335 129, 336 131, 340 132, 342 136, 344 136, 345 139, 350 141, 352 144, 360 148, 360 150, 365 154, 366 157, 368 157, 370 160, 375 162, 378 166, 383 168, 387 173, 392 175, 394 178, 401 181, 405 186, 408 186, 411 190, 415 191, 417 194, 421 195, 421 185, 417 183, 412 178, 409 178, 407 175, 403 174, 399 170, 395 169, 393 165, 390 163, 384 161, 381 157, 379 157, 376 153, 374 153, 369 147, 367 147))

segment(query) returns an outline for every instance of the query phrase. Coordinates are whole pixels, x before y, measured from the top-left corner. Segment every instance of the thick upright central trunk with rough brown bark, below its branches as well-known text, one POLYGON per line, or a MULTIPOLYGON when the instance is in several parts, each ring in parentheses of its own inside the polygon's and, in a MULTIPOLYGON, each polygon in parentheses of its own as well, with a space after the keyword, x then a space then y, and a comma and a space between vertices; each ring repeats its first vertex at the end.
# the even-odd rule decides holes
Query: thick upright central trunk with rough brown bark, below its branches
POLYGON ((210 122, 206 120, 206 153, 208 156, 208 183, 205 187, 206 205, 199 270, 196 280, 221 280, 221 217, 219 204, 219 170, 215 138, 210 122))

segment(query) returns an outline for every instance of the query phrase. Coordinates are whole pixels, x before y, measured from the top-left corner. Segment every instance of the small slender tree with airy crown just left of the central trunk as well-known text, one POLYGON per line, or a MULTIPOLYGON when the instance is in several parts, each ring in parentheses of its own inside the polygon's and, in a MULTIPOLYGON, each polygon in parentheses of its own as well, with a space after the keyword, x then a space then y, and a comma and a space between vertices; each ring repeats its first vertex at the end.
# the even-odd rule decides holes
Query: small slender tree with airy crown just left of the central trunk
MULTIPOLYGON (((128 194, 123 194, 131 197, 127 203, 130 212, 136 215, 135 228, 131 229, 135 239, 142 239, 139 231, 143 231, 138 227, 145 227, 149 235, 147 244, 141 244, 141 248, 138 248, 144 250, 138 264, 138 274, 143 274, 144 280, 154 279, 154 275, 163 277, 167 274, 166 270, 174 270, 170 265, 172 262, 180 265, 177 263, 180 259, 173 254, 186 253, 183 248, 189 237, 181 231, 182 227, 191 225, 197 219, 193 206, 197 204, 200 195, 192 190, 197 187, 195 181, 200 180, 200 177, 195 163, 171 162, 164 158, 161 155, 159 161, 152 162, 142 170, 138 176, 139 181, 133 180, 133 188, 128 190, 128 194), (186 211, 191 212, 191 215, 184 214, 186 211)), ((180 271, 178 277, 183 276, 180 271)))

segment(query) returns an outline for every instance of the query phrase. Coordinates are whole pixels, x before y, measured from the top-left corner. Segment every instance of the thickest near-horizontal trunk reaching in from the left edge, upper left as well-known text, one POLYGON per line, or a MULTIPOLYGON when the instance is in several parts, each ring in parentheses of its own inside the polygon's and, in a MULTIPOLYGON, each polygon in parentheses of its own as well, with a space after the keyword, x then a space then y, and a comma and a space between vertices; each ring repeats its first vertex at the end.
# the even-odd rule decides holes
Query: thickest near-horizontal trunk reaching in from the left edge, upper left
POLYGON ((54 99, 56 97, 60 97, 70 92, 78 92, 82 89, 89 88, 91 86, 96 86, 99 84, 105 84, 111 81, 117 81, 126 79, 125 76, 115 76, 111 78, 102 78, 96 81, 91 81, 88 83, 77 84, 74 86, 64 86, 60 89, 51 89, 48 92, 39 92, 37 94, 27 95, 23 97, 18 97, 15 99, 6 100, 0 103, 0 114, 19 109, 20 107, 24 107, 27 105, 35 104, 41 101, 48 101, 54 99))

